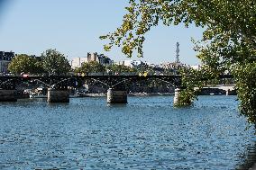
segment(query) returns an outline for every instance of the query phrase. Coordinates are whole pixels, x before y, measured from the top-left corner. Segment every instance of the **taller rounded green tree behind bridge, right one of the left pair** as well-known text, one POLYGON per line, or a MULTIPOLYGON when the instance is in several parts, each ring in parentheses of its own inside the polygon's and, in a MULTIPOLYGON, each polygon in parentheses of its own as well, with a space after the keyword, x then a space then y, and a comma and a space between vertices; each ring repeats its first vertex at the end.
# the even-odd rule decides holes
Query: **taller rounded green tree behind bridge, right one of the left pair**
POLYGON ((67 75, 71 69, 69 60, 56 49, 41 54, 42 67, 49 76, 67 75))

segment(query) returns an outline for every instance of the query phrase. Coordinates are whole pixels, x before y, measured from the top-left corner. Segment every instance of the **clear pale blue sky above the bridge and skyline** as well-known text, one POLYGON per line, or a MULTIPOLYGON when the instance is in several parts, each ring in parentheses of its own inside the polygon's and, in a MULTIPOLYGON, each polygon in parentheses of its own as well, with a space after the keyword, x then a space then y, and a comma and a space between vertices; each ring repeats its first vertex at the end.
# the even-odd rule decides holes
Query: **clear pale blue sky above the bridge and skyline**
MULTIPOLYGON (((114 61, 126 59, 119 48, 105 52, 106 41, 98 37, 122 23, 128 0, 4 1, 0 0, 0 50, 40 56, 46 49, 57 49, 69 59, 85 57, 87 52, 104 53, 114 61)), ((198 64, 191 37, 199 40, 201 34, 202 29, 183 25, 156 27, 146 34, 144 58, 140 59, 172 62, 179 41, 181 62, 198 64)))

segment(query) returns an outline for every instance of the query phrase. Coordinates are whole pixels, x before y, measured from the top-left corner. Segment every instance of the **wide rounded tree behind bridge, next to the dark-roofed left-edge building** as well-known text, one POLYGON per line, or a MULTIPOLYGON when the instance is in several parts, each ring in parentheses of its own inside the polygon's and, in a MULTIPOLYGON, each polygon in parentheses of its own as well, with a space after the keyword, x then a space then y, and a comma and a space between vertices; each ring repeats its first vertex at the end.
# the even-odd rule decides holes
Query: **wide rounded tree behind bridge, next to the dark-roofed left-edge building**
POLYGON ((41 74, 41 61, 26 54, 17 55, 10 63, 8 70, 14 74, 41 74))

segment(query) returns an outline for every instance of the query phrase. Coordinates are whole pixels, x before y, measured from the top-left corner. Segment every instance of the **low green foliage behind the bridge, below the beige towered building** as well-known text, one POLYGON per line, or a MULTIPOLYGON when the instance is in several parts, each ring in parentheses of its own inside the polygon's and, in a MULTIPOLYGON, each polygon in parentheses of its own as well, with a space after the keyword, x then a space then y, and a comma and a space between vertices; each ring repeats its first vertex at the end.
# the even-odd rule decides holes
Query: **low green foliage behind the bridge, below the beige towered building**
POLYGON ((96 61, 89 61, 86 63, 83 63, 81 67, 78 67, 75 69, 76 73, 104 73, 105 72, 105 66, 101 65, 100 63, 96 61))

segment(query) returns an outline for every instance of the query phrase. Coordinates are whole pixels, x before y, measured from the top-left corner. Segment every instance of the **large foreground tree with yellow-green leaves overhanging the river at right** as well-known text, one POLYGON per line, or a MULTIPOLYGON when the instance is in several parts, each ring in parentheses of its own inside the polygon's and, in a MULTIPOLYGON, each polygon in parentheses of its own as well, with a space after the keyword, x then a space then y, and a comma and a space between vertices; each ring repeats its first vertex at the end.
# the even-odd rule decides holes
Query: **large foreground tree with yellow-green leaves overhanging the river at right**
MULTIPOLYGON (((160 22, 168 26, 184 23, 186 27, 191 24, 206 27, 203 39, 195 42, 197 58, 202 60, 204 67, 194 73, 193 79, 204 85, 201 76, 212 78, 229 70, 236 80, 241 112, 248 116, 248 121, 256 122, 256 85, 255 81, 246 81, 256 75, 255 1, 130 0, 130 6, 125 9, 127 13, 121 27, 100 37, 110 40, 105 50, 117 45, 128 57, 132 57, 134 50, 142 57, 145 33, 160 22)), ((188 79, 184 84, 194 82, 188 79)))

